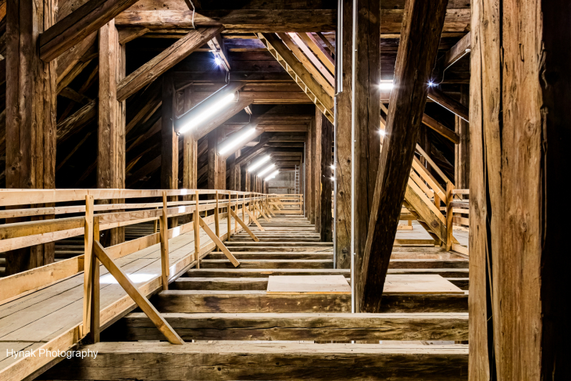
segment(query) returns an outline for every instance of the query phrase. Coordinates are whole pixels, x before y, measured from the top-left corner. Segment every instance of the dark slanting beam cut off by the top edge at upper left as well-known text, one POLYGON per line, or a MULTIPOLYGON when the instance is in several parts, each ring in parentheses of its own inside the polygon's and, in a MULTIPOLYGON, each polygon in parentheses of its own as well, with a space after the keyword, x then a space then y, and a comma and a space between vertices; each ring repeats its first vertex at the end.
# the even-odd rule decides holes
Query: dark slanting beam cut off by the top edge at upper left
POLYGON ((86 39, 137 0, 89 0, 39 36, 39 56, 46 62, 86 39))

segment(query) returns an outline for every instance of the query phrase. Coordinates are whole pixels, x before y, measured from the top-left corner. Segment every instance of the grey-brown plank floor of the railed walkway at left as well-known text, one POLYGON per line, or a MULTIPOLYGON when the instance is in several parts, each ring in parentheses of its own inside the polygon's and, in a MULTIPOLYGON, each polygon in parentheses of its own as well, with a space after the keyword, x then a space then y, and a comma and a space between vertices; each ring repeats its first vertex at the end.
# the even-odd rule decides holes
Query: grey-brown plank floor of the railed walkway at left
MULTIPOLYGON (((206 219, 214 230, 212 218, 206 219)), ((249 222, 246 217, 246 222, 249 222)), ((231 219, 231 232, 234 232, 234 219, 231 219)), ((226 218, 221 219, 221 238, 227 237, 226 218)), ((238 232, 242 228, 238 225, 238 232)), ((214 249, 214 244, 201 229, 201 257, 214 249)), ((196 265, 193 231, 169 239, 171 281, 196 265)), ((133 252, 116 259, 123 272, 140 288, 143 295, 150 296, 161 288, 161 247, 154 244, 146 249, 133 252)), ((82 269, 82 267, 81 267, 82 269)), ((116 322, 136 305, 116 280, 100 267, 101 327, 106 328, 116 322)), ((39 291, 19 297, 0 305, 0 380, 21 380, 27 375, 33 379, 45 367, 58 360, 32 357, 15 359, 6 355, 6 350, 36 350, 39 347, 61 347, 76 343, 79 326, 82 322, 84 297, 84 273, 51 284, 39 291)), ((61 359, 59 359, 61 360, 61 359)))

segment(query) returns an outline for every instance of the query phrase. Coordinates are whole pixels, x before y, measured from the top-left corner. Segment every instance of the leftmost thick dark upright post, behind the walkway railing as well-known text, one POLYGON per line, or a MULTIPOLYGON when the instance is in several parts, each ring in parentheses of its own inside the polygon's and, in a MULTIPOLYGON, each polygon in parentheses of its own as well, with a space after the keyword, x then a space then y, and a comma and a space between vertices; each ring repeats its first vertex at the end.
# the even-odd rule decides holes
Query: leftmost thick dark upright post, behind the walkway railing
MULTIPOLYGON (((56 61, 38 55, 39 35, 56 23, 57 2, 6 6, 6 188, 56 187, 56 61)), ((4 101, 2 101, 4 103, 4 101)), ((4 167, 3 167, 4 169, 4 167)), ((36 207, 53 205, 36 205, 36 207)), ((44 219, 52 219, 46 215, 44 219)), ((12 219, 8 222, 23 222, 12 219)), ((6 252, 5 275, 54 262, 54 242, 6 252)))

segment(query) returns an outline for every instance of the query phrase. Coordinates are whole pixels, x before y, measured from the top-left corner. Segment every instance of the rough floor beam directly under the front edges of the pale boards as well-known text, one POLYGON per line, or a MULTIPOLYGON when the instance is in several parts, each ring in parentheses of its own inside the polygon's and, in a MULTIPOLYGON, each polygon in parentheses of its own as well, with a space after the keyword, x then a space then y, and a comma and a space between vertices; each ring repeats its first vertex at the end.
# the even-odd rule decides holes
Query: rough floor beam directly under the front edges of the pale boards
MULTIPOLYGON (((265 291, 167 290, 153 297, 159 312, 350 312, 348 294, 268 294, 265 291)), ((468 295, 383 295, 381 312, 468 312, 468 295)))

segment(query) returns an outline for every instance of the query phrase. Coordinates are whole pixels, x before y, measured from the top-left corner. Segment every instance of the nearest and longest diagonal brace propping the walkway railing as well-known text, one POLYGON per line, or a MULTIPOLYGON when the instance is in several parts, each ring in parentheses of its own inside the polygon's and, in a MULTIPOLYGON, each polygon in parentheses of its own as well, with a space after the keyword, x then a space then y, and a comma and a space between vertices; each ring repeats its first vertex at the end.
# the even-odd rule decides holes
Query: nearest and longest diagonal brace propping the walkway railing
POLYGON ((171 327, 171 325, 169 325, 168 322, 164 320, 156 308, 151 305, 151 302, 149 302, 148 299, 143 294, 141 294, 141 292, 138 290, 138 287, 136 287, 136 285, 131 282, 131 279, 129 279, 127 274, 123 272, 121 267, 118 267, 117 264, 113 262, 113 259, 108 256, 105 249, 103 249, 103 246, 101 246, 101 244, 97 241, 94 242, 94 254, 101 261, 101 263, 103 263, 103 266, 109 270, 109 273, 113 275, 118 284, 123 287, 123 290, 125 290, 131 299, 138 305, 138 307, 141 308, 143 312, 145 312, 145 315, 151 319, 151 322, 156 325, 158 330, 161 331, 163 335, 165 335, 168 342, 171 344, 184 344, 184 341, 173 330, 173 327, 171 327))

